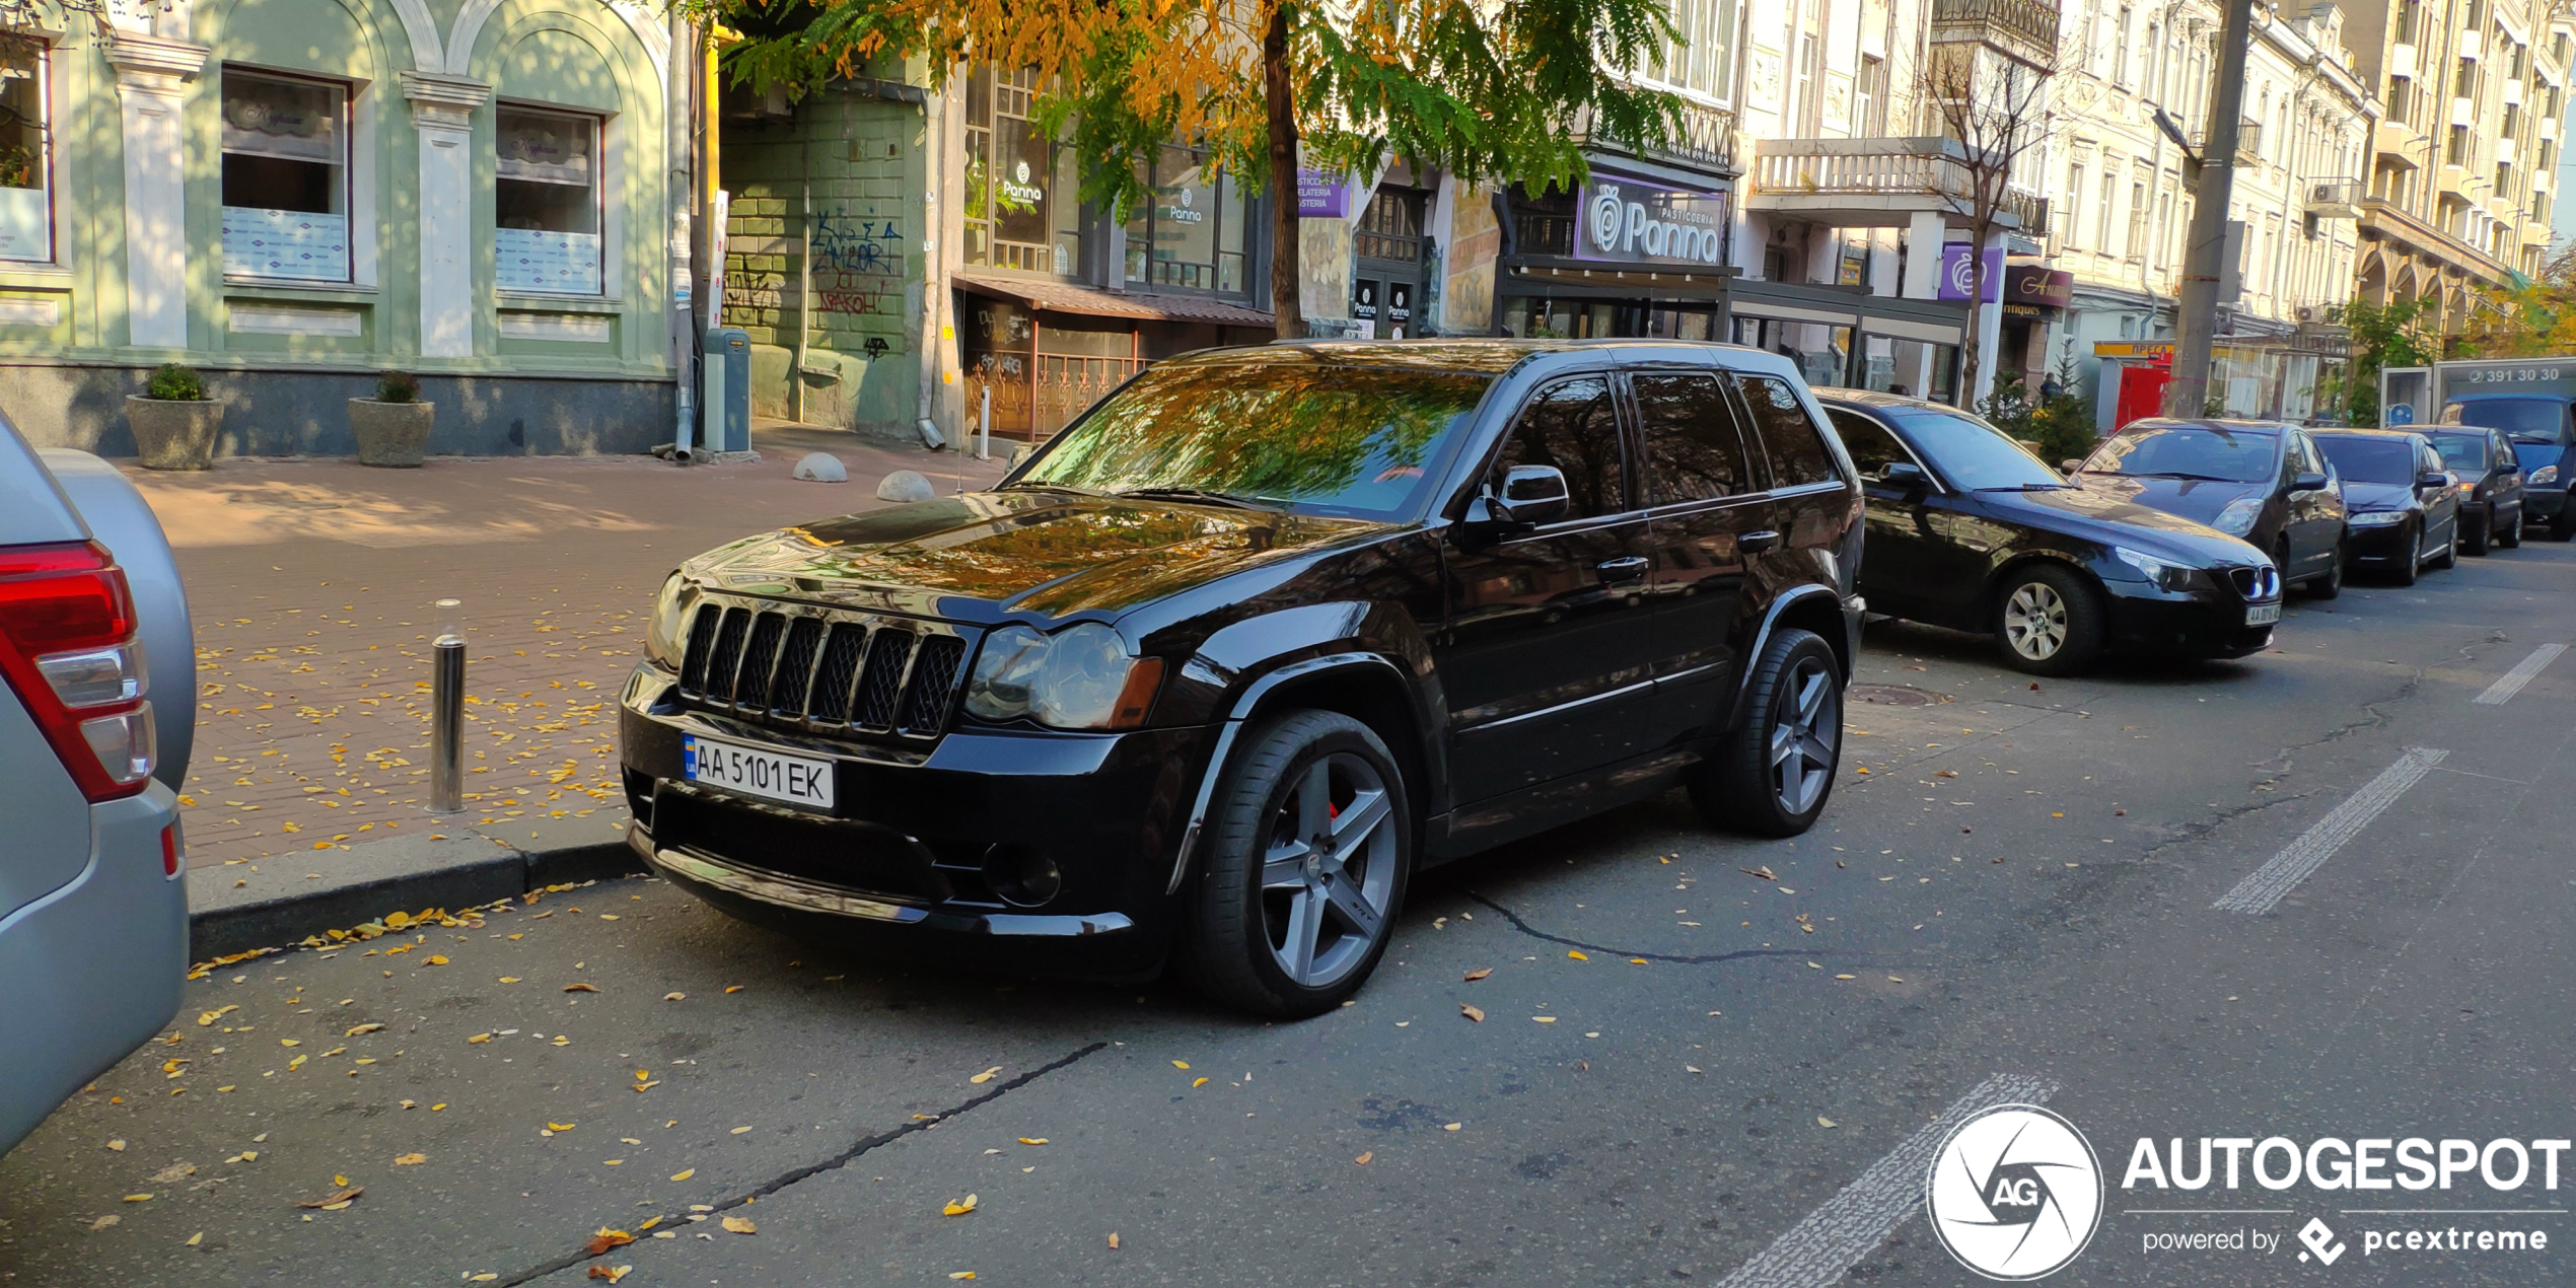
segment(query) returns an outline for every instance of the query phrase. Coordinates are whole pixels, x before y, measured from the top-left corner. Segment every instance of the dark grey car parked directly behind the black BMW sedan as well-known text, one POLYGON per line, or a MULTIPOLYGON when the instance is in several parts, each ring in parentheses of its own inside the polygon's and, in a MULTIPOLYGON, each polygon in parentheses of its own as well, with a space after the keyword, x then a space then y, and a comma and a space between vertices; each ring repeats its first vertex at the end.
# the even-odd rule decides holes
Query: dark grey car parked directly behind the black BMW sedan
POLYGON ((2249 541, 2285 587, 2344 590, 2344 492, 2298 425, 2133 420, 2066 469, 2079 487, 2249 541))

